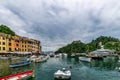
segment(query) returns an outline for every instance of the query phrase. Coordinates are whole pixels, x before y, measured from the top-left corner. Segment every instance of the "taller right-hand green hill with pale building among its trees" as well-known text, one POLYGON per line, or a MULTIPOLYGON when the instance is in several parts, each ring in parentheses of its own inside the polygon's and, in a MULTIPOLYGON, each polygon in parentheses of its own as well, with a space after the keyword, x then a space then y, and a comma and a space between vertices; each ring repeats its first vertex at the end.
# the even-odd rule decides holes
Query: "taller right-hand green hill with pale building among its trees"
POLYGON ((104 45, 105 49, 114 49, 117 51, 120 50, 120 40, 117 38, 108 37, 108 36, 100 36, 96 40, 92 40, 87 45, 88 45, 89 51, 100 49, 101 45, 104 45))

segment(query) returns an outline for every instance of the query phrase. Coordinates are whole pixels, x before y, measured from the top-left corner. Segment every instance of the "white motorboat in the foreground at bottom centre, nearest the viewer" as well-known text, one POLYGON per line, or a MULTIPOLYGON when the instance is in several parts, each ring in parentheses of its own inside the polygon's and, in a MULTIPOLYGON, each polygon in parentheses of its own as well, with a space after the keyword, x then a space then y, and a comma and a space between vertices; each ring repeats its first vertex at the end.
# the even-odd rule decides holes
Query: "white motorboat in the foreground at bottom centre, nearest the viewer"
POLYGON ((54 78, 56 79, 70 79, 71 71, 63 68, 62 70, 58 70, 54 73, 54 78))

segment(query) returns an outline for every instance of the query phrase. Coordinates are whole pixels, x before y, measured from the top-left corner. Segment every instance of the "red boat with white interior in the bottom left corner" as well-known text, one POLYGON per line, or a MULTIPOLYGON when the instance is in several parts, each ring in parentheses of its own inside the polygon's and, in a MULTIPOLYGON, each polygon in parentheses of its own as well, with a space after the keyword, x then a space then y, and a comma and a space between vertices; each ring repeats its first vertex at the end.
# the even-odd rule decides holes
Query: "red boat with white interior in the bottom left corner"
POLYGON ((30 77, 34 77, 34 70, 29 70, 29 71, 5 76, 0 78, 0 80, 23 80, 23 79, 26 80, 30 77))

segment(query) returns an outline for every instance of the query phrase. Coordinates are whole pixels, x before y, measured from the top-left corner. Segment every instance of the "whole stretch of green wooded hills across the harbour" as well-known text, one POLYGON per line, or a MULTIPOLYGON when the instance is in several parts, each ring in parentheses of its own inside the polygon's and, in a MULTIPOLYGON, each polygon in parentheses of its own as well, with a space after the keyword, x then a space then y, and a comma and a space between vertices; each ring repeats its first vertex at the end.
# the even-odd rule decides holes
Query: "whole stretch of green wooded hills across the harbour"
POLYGON ((104 45, 105 49, 114 49, 116 51, 120 51, 119 39, 107 36, 100 36, 96 40, 92 40, 88 44, 85 44, 81 41, 72 42, 71 44, 58 49, 55 53, 86 53, 101 48, 101 45, 104 45))

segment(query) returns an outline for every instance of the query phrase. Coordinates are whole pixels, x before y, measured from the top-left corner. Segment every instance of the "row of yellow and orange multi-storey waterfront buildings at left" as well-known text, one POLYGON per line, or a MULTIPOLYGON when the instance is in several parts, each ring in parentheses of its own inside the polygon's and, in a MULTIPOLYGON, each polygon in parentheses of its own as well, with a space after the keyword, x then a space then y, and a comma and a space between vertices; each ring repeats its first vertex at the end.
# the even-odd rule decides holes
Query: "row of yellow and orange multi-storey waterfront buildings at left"
POLYGON ((0 33, 0 53, 9 52, 41 54, 41 43, 28 37, 0 33))

